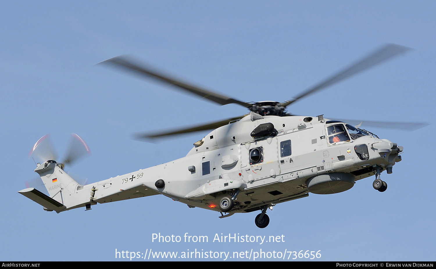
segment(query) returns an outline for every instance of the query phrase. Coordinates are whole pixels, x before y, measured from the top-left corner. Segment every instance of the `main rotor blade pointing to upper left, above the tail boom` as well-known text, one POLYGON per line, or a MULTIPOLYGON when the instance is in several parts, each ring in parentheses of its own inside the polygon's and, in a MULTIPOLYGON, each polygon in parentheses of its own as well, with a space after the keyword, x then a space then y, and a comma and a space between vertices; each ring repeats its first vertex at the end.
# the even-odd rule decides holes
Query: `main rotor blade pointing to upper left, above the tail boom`
POLYGON ((171 85, 177 86, 180 89, 183 89, 185 91, 191 92, 193 94, 199 95, 201 98, 209 99, 213 102, 216 102, 220 105, 227 105, 227 104, 238 104, 245 107, 250 107, 251 104, 235 100, 233 98, 230 98, 225 95, 218 94, 216 92, 211 92, 206 89, 201 89, 197 86, 190 85, 186 82, 181 82, 180 80, 176 78, 171 78, 168 75, 164 75, 162 73, 156 72, 152 68, 146 67, 144 65, 141 65, 139 63, 136 63, 132 59, 127 58, 126 56, 117 56, 114 58, 107 59, 105 61, 102 61, 101 63, 112 63, 118 67, 126 68, 127 70, 134 71, 140 75, 146 75, 150 78, 155 78, 161 82, 168 82, 171 85))

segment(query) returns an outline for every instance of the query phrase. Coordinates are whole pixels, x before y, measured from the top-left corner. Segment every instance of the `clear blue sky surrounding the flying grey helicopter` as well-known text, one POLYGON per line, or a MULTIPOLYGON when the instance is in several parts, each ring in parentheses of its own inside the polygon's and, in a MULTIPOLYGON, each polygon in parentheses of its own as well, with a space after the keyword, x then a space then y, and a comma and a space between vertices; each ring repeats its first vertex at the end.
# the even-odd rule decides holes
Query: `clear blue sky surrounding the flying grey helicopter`
POLYGON ((371 177, 340 194, 310 194, 268 211, 265 229, 255 226, 256 212, 219 219, 164 196, 56 214, 17 193, 36 176, 27 153, 46 133, 59 155, 70 133, 81 136, 92 156, 67 170, 95 182, 184 157, 207 132, 157 144, 131 140, 132 133, 246 112, 95 65, 120 54, 238 100, 284 101, 382 44, 401 44, 413 50, 295 102, 289 112, 431 123, 434 2, 3 1, 1 7, 0 260, 129 260, 115 259, 115 249, 261 248, 320 250, 319 260, 333 261, 435 260, 434 124, 414 132, 368 128, 404 147, 393 174, 381 175, 384 193, 372 188, 371 177), (152 242, 159 232, 207 235, 209 242, 152 242), (221 233, 284 235, 285 242, 211 242, 221 233))

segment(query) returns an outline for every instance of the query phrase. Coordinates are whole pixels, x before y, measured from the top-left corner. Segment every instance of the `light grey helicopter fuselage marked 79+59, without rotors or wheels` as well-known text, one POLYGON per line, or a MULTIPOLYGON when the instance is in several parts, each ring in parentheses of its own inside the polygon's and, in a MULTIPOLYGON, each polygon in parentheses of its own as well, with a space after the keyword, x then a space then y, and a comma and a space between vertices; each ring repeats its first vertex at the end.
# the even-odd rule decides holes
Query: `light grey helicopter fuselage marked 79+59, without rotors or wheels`
POLYGON ((356 180, 375 175, 375 167, 390 174, 402 151, 346 123, 253 112, 196 145, 186 157, 85 186, 70 180, 56 162, 42 163, 35 171, 61 204, 45 209, 89 209, 91 204, 163 194, 190 208, 222 212, 218 205, 227 196, 234 198, 228 213, 266 210, 309 192, 346 191, 356 180), (271 124, 272 129, 253 137, 257 127, 271 124))

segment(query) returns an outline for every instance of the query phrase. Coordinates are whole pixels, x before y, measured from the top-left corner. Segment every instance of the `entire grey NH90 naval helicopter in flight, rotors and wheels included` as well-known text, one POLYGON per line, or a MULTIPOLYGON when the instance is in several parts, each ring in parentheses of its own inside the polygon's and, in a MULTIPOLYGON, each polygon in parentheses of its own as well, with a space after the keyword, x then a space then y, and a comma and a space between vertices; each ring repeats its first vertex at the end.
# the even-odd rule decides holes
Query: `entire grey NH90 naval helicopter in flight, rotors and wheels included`
MULTIPOLYGON (((103 61, 139 75, 167 82, 178 89, 199 95, 221 105, 235 103, 247 107, 245 116, 225 119, 193 128, 165 133, 140 134, 150 139, 214 129, 194 143, 186 157, 92 184, 78 184, 65 173, 65 164, 89 152, 86 143, 74 135, 76 143, 63 162, 57 162, 48 146, 47 135, 35 143, 30 155, 39 157, 34 170, 50 196, 28 187, 20 194, 41 204, 46 211, 108 203, 163 194, 188 207, 221 213, 261 211, 255 224, 269 224, 266 210, 278 203, 314 194, 334 194, 354 186, 356 180, 375 175, 373 187, 385 191, 382 171, 392 173, 401 161, 403 148, 375 134, 343 121, 321 116, 295 116, 286 107, 303 97, 326 88, 373 65, 405 53, 409 48, 388 44, 354 65, 307 89, 291 101, 247 103, 198 88, 162 75, 119 56, 103 61), (216 129, 215 129, 216 128, 216 129)), ((417 129, 425 123, 365 122, 399 129, 417 129)), ((225 214, 223 214, 225 213, 225 214)))

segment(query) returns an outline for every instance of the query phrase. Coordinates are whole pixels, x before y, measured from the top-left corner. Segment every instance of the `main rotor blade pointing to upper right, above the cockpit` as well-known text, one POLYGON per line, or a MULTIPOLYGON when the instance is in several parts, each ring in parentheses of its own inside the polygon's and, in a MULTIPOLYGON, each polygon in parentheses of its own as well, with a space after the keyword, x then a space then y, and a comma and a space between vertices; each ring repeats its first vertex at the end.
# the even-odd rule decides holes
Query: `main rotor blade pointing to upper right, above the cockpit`
POLYGON ((374 53, 370 54, 369 56, 358 61, 354 65, 351 65, 350 67, 345 68, 341 72, 333 75, 330 78, 327 78, 323 82, 313 86, 310 89, 307 89, 306 91, 304 91, 300 95, 294 97, 293 100, 283 102, 281 105, 285 106, 285 107, 289 106, 293 102, 295 102, 295 101, 297 101, 297 100, 299 100, 307 95, 310 95, 314 92, 320 91, 321 89, 324 89, 324 88, 326 88, 334 83, 340 82, 341 80, 348 78, 352 75, 356 75, 359 72, 362 72, 368 68, 371 68, 372 66, 377 65, 383 61, 386 61, 386 60, 388 60, 388 59, 390 59, 398 54, 404 54, 406 51, 409 51, 410 49, 411 48, 407 48, 407 47, 397 45, 397 44, 387 44, 384 47, 382 47, 381 49, 379 49, 378 51, 375 51, 374 53))

